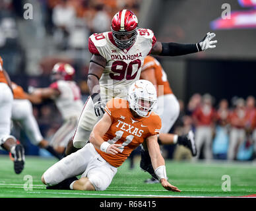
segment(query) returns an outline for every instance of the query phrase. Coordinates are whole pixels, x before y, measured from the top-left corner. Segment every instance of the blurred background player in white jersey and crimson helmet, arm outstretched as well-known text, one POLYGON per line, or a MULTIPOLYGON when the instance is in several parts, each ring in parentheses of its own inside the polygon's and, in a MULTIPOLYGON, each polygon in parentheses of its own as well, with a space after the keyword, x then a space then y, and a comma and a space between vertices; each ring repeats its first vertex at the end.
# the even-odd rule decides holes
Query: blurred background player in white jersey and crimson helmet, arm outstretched
POLYGON ((54 100, 59 109, 64 123, 51 139, 50 145, 59 154, 65 152, 67 143, 72 138, 77 127, 83 102, 80 96, 80 88, 73 77, 75 69, 67 63, 57 63, 52 70, 54 81, 48 88, 35 88, 30 94, 34 104, 41 103, 45 99, 54 100))

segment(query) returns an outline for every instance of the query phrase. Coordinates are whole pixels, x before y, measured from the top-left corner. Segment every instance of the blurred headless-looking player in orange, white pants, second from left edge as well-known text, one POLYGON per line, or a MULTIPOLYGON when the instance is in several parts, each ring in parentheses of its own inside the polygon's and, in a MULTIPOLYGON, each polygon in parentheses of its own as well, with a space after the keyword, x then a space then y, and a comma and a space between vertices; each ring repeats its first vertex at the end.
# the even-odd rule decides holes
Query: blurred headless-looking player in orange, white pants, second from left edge
POLYGON ((33 99, 32 96, 24 92, 23 88, 15 84, 15 82, 12 82, 12 88, 14 100, 11 119, 13 119, 15 123, 18 123, 21 129, 25 131, 32 144, 37 145, 40 148, 45 148, 53 156, 61 159, 63 155, 55 152, 53 147, 49 146, 48 140, 45 140, 40 133, 30 102, 30 100, 33 102, 36 99, 33 99))

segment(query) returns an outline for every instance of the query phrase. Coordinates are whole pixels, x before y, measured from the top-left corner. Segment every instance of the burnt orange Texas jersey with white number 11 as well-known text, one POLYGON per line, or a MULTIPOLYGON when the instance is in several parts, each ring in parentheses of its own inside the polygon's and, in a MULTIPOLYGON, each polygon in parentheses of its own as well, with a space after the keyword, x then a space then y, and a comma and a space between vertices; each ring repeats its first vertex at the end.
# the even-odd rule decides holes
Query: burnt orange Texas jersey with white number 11
POLYGON ((137 148, 147 137, 158 135, 161 129, 161 119, 156 113, 149 117, 133 117, 127 100, 113 98, 105 107, 106 113, 112 119, 112 125, 102 137, 110 144, 121 144, 121 152, 112 155, 97 150, 109 164, 121 166, 131 152, 137 148))

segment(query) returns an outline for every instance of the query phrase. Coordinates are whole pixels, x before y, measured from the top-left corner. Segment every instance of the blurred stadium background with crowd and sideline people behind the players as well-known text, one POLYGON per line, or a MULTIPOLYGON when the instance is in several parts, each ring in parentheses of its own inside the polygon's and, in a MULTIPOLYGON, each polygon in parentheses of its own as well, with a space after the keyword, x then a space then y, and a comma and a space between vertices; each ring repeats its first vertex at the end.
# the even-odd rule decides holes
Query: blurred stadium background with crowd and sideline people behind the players
MULTIPOLYGON (((11 79, 26 91, 30 86, 49 86, 53 65, 57 62, 70 63, 75 67, 75 80, 85 102, 88 98, 86 80, 91 57, 88 51, 90 34, 110 31, 112 16, 125 8, 137 15, 139 27, 151 28, 162 42, 198 42, 201 36, 203 38, 208 30, 212 30, 210 21, 222 12, 222 1, 215 1, 210 11, 204 10, 208 16, 204 15, 199 5, 207 7, 210 1, 199 1, 201 3, 197 5, 186 0, 179 3, 159 1, 156 5, 156 1, 151 0, 2 0, 0 55, 11 79), (24 18, 25 3, 32 5, 32 19, 24 18), (166 13, 168 8, 170 12, 166 13), (156 13, 158 9, 160 12, 156 13), (178 13, 179 9, 186 13, 178 13), (202 11, 201 17, 204 18, 201 19, 207 24, 199 24, 200 14, 195 13, 196 9, 202 11), (216 11, 212 12, 212 9, 216 11), (161 11, 162 16, 159 16, 161 11), (189 19, 190 13, 195 20, 189 19), (177 18, 164 18, 171 15, 177 18), (203 28, 199 28, 202 25, 203 28)), ((236 0, 227 2, 234 9, 240 7, 236 0)), ((238 45, 242 43, 241 36, 245 32, 235 31, 240 41, 238 45)), ((250 37, 255 38, 255 30, 251 29, 249 34, 252 33, 250 37)), ((256 142, 253 141, 256 136, 256 108, 255 93, 248 84, 253 81, 255 73, 246 72, 255 67, 253 51, 249 39, 249 46, 241 44, 241 49, 232 50, 236 36, 230 31, 216 34, 220 47, 216 47, 214 52, 174 59, 158 57, 181 108, 179 119, 170 132, 184 135, 193 129, 199 147, 198 159, 253 160, 256 150, 256 142), (229 38, 233 39, 230 44, 224 42, 229 38)), ((42 135, 50 140, 61 125, 61 115, 51 100, 35 105, 33 109, 42 135)), ((30 144, 22 130, 15 126, 13 123, 13 133, 24 144, 26 154, 49 156, 44 150, 30 144)), ((170 159, 191 159, 182 146, 162 146, 162 152, 170 159)))

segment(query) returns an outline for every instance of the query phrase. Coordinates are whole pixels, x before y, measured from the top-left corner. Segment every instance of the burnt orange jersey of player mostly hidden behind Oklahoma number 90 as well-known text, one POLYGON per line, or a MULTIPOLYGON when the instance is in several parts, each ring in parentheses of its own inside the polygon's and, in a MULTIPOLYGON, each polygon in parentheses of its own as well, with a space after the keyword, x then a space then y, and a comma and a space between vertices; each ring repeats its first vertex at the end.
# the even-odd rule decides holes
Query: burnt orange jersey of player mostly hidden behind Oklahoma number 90
POLYGON ((158 96, 161 96, 163 94, 172 94, 173 93, 172 88, 170 87, 170 84, 168 82, 164 69, 162 68, 160 63, 150 55, 145 57, 144 65, 141 71, 146 71, 148 69, 154 69, 154 76, 156 78, 156 83, 158 86, 158 96))

